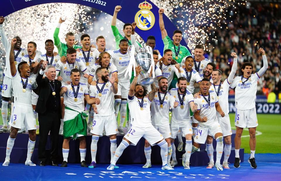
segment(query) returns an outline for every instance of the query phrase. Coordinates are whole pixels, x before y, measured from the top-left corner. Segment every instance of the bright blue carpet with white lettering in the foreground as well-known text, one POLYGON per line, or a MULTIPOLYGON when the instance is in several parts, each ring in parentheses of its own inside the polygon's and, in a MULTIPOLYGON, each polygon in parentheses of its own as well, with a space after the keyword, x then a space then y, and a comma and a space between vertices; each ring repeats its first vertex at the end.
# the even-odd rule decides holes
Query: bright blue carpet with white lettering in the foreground
MULTIPOLYGON (((108 164, 97 164, 94 169, 81 168, 79 164, 68 164, 67 168, 61 167, 28 167, 24 164, 11 163, 10 166, 0 166, 1 180, 171 180, 196 179, 205 180, 279 180, 281 177, 281 154, 256 154, 257 169, 252 169, 246 161, 249 155, 244 156, 245 162, 240 168, 217 171, 206 169, 206 166, 191 167, 185 170, 177 166, 175 170, 161 170, 161 165, 153 165, 152 168, 144 169, 139 164, 119 165, 119 169, 106 170, 108 164)), ((2 163, 1 163, 2 164, 2 163)))

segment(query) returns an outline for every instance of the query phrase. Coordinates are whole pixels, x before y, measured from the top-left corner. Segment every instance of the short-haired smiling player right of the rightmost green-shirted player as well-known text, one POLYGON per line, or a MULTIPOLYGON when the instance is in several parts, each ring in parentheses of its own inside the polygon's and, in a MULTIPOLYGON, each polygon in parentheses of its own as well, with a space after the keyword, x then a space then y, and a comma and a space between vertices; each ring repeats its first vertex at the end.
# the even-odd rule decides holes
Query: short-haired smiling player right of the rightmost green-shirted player
POLYGON ((210 62, 210 60, 205 58, 203 54, 204 54, 204 47, 202 45, 196 45, 194 49, 194 55, 191 55, 193 57, 192 68, 196 70, 199 74, 203 74, 203 70, 210 62))

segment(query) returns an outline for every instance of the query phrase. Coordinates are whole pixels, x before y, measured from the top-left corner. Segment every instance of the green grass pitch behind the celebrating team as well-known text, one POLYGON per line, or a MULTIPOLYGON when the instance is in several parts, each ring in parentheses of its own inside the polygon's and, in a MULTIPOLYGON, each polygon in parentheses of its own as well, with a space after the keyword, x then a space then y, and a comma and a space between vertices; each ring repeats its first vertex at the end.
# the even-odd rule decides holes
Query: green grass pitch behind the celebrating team
MULTIPOLYGON (((235 114, 229 114, 232 129, 234 126, 235 114)), ((118 123, 120 121, 118 115, 118 123)), ((0 124, 3 124, 0 116, 0 124)), ((278 114, 258 114, 257 127, 257 146, 256 153, 281 153, 281 115, 278 114)), ((124 123, 124 126, 126 122, 124 123)), ((244 129, 241 138, 241 148, 245 149, 245 153, 250 153, 249 131, 244 129)))

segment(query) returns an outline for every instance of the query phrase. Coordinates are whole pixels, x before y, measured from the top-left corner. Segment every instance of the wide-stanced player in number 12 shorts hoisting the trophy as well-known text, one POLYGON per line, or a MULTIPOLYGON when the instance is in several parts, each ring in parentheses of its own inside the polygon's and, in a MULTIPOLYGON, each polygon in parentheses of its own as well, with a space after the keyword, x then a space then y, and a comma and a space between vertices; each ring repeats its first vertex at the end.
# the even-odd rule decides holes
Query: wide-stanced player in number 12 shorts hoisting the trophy
POLYGON ((124 149, 130 144, 136 145, 141 137, 144 137, 152 146, 160 146, 162 170, 174 170, 167 164, 168 143, 151 124, 150 104, 155 97, 156 87, 154 84, 151 84, 152 91, 147 95, 146 89, 137 84, 140 71, 141 67, 136 67, 136 76, 131 83, 130 91, 128 93, 128 104, 130 108, 132 126, 116 149, 112 162, 107 167, 107 170, 114 170, 115 164, 118 158, 122 155, 124 149))

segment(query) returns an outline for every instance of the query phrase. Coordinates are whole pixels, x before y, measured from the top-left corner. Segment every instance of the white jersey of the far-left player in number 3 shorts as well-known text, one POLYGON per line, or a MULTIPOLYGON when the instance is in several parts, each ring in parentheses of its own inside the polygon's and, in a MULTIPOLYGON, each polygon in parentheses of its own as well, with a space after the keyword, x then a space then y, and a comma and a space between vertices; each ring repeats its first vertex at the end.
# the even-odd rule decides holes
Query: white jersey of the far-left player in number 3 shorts
POLYGON ((14 103, 31 106, 31 91, 37 88, 37 84, 34 78, 28 77, 28 83, 25 87, 25 92, 23 92, 23 84, 25 82, 26 78, 20 77, 20 73, 17 70, 16 75, 12 76, 14 103))

